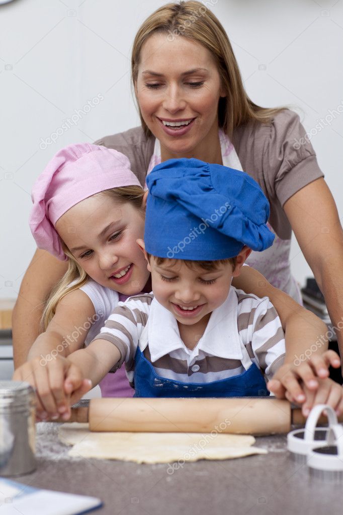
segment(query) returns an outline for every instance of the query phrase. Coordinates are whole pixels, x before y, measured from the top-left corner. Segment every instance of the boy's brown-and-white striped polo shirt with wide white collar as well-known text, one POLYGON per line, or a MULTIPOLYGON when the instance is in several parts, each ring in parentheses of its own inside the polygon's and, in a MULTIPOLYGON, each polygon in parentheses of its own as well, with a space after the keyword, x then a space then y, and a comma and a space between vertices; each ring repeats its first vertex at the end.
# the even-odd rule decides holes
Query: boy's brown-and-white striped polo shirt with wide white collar
POLYGON ((105 339, 120 352, 133 385, 137 347, 156 374, 183 383, 209 383, 243 373, 255 363, 270 379, 282 365, 284 333, 274 306, 231 286, 226 300, 211 313, 193 350, 180 338, 172 313, 153 294, 119 302, 95 339, 105 339))

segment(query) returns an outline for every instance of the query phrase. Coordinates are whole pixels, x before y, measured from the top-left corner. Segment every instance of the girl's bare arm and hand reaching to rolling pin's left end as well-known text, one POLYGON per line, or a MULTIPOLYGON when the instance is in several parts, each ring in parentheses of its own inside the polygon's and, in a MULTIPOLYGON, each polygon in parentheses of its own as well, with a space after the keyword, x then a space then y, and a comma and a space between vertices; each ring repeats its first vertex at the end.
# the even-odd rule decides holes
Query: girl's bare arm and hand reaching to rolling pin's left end
POLYGON ((39 417, 44 416, 43 412, 55 417, 67 407, 63 388, 65 358, 83 346, 94 315, 93 303, 82 290, 65 295, 47 330, 32 345, 29 361, 15 370, 15 381, 27 381, 36 389, 39 417))

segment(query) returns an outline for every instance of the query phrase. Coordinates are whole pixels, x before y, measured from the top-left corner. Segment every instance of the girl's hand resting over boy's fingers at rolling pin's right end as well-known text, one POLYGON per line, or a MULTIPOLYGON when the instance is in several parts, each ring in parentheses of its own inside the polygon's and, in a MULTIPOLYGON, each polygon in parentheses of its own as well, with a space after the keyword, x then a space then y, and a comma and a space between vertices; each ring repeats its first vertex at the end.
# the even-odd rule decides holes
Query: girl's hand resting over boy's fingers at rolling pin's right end
POLYGON ((335 351, 328 350, 320 355, 314 354, 310 359, 300 365, 286 363, 273 375, 267 388, 278 399, 285 397, 298 404, 305 402, 306 391, 315 392, 319 380, 329 376, 329 366, 339 368, 340 359, 335 351))

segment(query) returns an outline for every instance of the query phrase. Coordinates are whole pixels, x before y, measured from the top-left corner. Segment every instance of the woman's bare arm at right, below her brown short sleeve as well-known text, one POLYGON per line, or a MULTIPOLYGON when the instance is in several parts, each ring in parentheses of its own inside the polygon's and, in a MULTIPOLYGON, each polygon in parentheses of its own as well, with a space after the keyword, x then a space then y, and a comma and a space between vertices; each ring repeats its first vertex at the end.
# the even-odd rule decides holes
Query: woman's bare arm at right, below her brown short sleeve
POLYGON ((335 201, 321 178, 295 193, 283 209, 324 295, 343 356, 343 231, 335 201))

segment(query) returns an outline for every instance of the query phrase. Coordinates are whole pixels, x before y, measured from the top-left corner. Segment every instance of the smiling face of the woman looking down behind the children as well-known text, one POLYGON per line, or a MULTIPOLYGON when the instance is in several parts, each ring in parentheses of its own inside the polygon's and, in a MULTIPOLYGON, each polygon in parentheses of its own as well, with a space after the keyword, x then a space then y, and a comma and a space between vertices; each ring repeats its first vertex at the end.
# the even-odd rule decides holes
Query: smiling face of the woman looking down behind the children
POLYGON ((218 102, 226 94, 213 57, 201 44, 151 36, 141 49, 135 91, 164 160, 204 158, 218 140, 218 102))

